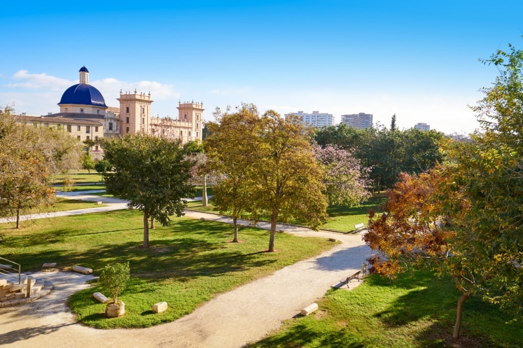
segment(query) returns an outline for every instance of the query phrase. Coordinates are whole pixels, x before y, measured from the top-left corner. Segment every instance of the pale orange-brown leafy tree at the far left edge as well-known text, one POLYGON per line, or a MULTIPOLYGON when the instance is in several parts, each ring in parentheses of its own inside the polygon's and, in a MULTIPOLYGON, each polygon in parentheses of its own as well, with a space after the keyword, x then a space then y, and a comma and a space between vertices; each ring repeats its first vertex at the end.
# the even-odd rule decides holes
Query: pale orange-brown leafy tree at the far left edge
POLYGON ((0 213, 16 214, 18 228, 22 211, 53 203, 51 177, 77 165, 79 148, 62 131, 17 123, 12 111, 0 110, 0 213))

